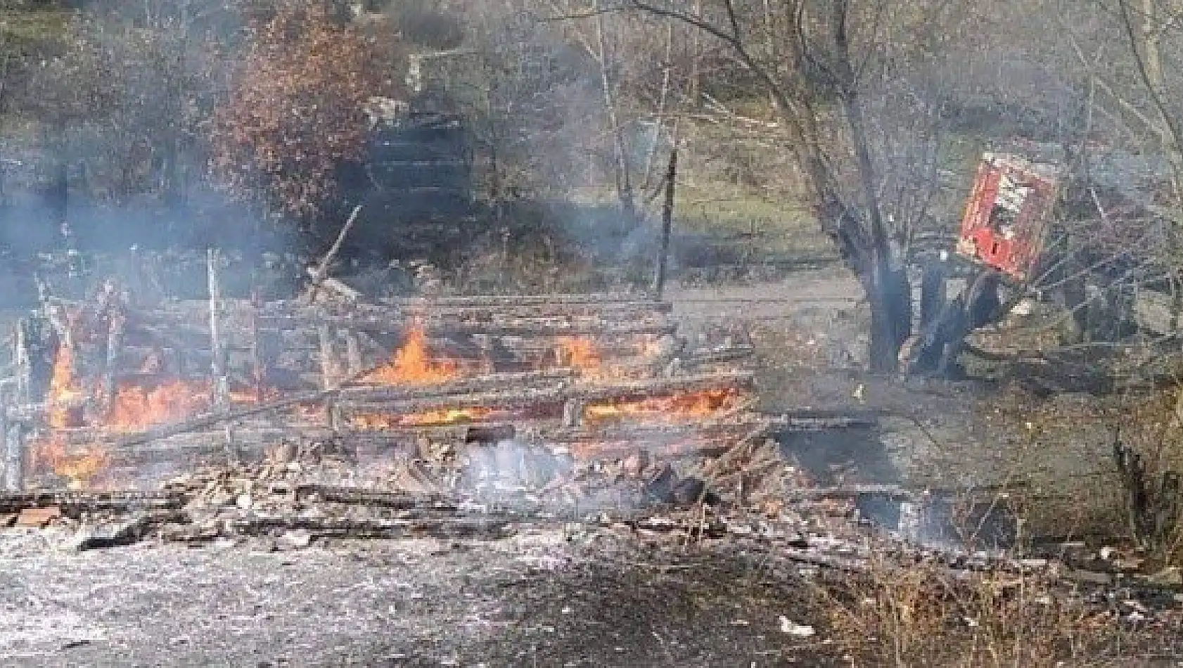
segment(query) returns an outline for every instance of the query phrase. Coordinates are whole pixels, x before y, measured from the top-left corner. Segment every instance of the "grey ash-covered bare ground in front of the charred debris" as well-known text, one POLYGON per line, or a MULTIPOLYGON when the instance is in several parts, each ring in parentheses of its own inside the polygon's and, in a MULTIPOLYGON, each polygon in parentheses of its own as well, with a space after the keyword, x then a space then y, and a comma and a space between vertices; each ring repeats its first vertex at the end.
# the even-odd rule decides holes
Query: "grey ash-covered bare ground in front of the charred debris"
POLYGON ((825 662, 809 586, 758 554, 602 532, 491 543, 141 544, 0 538, 4 666, 787 666, 825 662))

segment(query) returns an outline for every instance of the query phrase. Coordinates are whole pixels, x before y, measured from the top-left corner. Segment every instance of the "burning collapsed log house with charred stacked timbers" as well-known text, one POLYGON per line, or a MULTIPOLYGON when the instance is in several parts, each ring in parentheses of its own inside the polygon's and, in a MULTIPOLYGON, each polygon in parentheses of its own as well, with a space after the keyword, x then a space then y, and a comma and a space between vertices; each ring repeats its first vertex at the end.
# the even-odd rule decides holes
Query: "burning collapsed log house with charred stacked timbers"
MULTIPOLYGON (((750 345, 690 349, 636 294, 132 306, 50 299, 0 383, 5 481, 130 488, 269 448, 358 461, 500 441, 576 458, 719 453, 788 428, 752 411, 750 345)), ((804 428, 826 427, 804 419, 804 428)))

